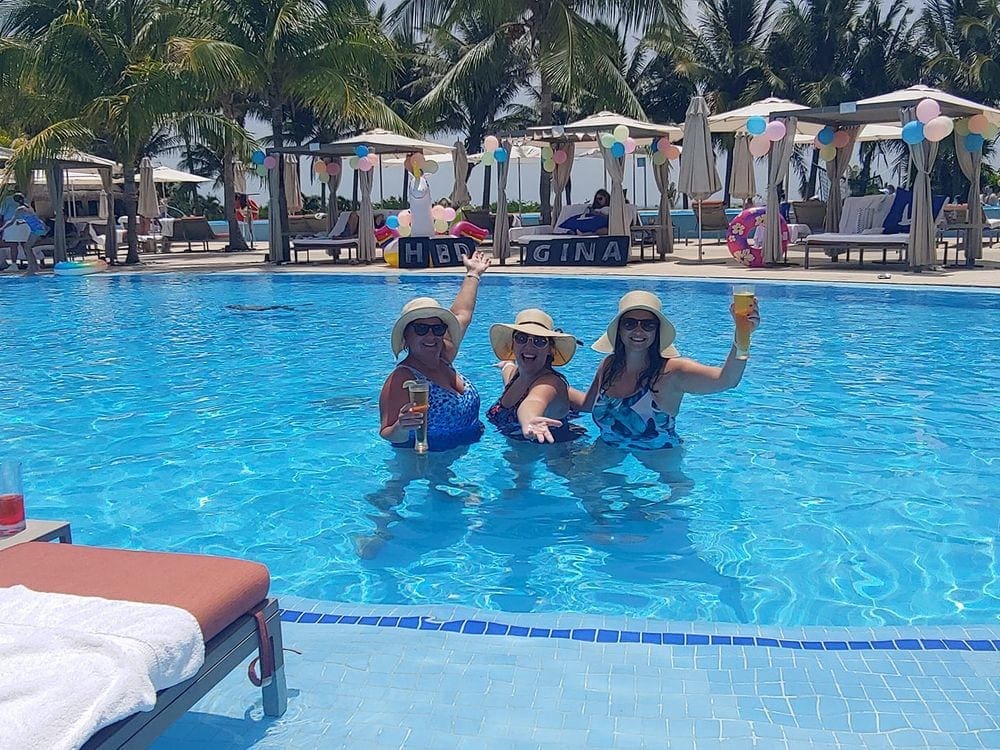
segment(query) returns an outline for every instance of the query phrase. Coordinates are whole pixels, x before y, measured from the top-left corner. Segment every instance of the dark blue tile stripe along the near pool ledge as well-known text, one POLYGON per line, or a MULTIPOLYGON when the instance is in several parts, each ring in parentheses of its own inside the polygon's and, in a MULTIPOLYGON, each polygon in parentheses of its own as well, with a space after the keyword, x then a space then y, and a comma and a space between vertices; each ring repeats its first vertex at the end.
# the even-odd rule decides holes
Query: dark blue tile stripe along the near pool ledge
POLYGON ((805 651, 1000 651, 1000 640, 954 638, 896 638, 877 641, 815 641, 747 635, 639 632, 607 628, 542 628, 507 625, 487 620, 436 620, 428 616, 391 617, 339 615, 281 610, 282 622, 320 625, 369 625, 381 628, 434 630, 465 635, 500 635, 511 638, 558 638, 588 643, 652 643, 663 646, 758 646, 805 651))

